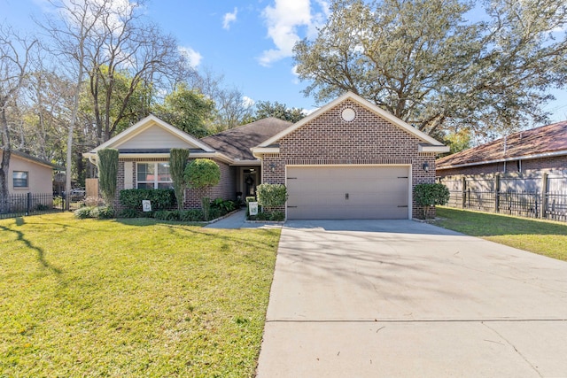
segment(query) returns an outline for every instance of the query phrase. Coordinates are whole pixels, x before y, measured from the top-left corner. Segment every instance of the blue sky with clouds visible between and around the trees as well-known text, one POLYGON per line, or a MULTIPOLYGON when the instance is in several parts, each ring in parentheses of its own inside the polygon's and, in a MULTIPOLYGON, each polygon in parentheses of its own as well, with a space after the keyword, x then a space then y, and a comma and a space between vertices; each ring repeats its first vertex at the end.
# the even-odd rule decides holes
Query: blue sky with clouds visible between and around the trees
MULTIPOLYGON (((125 1, 125 0, 117 0, 125 1)), ((33 32, 31 15, 43 18, 46 0, 0 0, 0 22, 33 32)), ((199 70, 224 75, 253 101, 277 101, 313 110, 307 86, 293 73, 291 48, 301 38, 312 38, 326 19, 324 0, 150 0, 149 19, 175 35, 199 70)), ((567 91, 548 104, 552 121, 567 120, 567 91)))

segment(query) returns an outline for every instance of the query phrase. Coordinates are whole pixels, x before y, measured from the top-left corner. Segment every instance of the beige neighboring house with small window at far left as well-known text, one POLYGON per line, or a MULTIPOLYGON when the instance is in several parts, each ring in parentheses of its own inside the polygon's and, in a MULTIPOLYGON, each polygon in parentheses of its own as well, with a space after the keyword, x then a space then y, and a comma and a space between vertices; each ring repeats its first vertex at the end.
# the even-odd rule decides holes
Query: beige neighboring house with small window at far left
MULTIPOLYGON (((0 150, 0 162, 2 150, 0 150)), ((52 193, 53 170, 61 169, 41 158, 12 150, 8 168, 8 193, 52 193)))

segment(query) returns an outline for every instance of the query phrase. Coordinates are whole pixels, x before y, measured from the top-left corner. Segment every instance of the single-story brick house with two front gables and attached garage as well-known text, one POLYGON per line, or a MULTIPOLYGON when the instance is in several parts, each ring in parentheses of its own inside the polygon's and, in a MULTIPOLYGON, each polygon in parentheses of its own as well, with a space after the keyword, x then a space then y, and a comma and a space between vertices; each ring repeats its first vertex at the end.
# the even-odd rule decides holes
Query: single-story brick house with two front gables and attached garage
MULTIPOLYGON (((287 186, 287 219, 411 219, 416 184, 435 181, 447 146, 351 92, 295 124, 266 119, 197 139, 150 115, 85 153, 120 151, 118 189, 171 185, 169 149, 211 158, 221 183, 210 197, 255 194, 258 183, 287 186)), ((197 207, 188 189, 185 207, 197 207)))

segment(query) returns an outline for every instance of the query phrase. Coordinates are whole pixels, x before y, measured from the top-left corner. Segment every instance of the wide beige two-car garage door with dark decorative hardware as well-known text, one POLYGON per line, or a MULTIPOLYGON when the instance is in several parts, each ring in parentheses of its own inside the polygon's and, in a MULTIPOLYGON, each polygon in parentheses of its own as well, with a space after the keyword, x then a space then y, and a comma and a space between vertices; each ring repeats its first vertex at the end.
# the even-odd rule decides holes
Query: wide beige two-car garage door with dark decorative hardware
POLYGON ((408 219, 408 166, 288 166, 290 220, 408 219))

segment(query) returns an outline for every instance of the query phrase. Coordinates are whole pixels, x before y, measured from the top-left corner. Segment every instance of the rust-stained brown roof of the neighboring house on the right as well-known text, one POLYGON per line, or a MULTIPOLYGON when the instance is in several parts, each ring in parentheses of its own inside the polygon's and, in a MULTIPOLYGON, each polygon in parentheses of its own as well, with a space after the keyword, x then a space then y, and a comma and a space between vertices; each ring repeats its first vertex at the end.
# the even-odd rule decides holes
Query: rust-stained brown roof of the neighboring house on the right
POLYGON ((567 155, 567 120, 507 135, 439 158, 436 169, 567 155))

